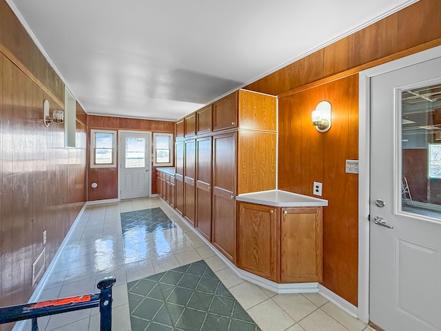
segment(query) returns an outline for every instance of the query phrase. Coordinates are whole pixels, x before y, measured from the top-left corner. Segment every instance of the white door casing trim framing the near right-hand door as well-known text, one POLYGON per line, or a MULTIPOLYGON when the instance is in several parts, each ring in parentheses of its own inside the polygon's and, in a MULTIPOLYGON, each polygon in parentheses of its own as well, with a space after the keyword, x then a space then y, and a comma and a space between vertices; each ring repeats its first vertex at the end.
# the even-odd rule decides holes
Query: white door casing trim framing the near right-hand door
POLYGON ((441 57, 441 46, 411 54, 359 72, 358 99, 358 319, 369 322, 369 190, 370 190, 370 79, 441 57))

